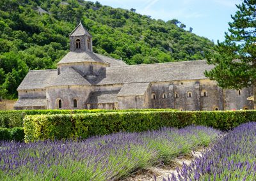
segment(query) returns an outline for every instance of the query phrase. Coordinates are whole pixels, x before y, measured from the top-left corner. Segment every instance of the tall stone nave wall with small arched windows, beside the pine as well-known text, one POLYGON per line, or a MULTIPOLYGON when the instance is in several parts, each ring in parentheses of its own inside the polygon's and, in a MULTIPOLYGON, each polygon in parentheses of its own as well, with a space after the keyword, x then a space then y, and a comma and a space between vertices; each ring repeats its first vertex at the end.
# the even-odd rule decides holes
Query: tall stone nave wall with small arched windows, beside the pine
POLYGON ((223 90, 211 80, 154 82, 150 86, 150 108, 178 110, 240 110, 253 109, 252 88, 223 90), (164 96, 164 94, 166 96, 164 96), (155 99, 154 99, 155 95, 155 99))

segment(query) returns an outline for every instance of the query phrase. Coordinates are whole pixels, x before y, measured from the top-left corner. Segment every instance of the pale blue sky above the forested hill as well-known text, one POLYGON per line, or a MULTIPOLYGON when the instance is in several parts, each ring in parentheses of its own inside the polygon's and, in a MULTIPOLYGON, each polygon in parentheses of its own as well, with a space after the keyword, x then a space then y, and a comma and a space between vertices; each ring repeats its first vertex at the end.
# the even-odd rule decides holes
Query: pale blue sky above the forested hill
MULTIPOLYGON (((92 1, 92 0, 91 0, 92 1)), ((176 18, 186 25, 186 29, 193 28, 193 33, 209 38, 209 40, 223 41, 228 22, 232 22, 230 15, 237 11, 235 4, 242 0, 98 0, 100 4, 113 8, 136 9, 137 13, 150 15, 152 18, 164 21, 176 18)), ((95 2, 93 0, 93 2, 95 2)))

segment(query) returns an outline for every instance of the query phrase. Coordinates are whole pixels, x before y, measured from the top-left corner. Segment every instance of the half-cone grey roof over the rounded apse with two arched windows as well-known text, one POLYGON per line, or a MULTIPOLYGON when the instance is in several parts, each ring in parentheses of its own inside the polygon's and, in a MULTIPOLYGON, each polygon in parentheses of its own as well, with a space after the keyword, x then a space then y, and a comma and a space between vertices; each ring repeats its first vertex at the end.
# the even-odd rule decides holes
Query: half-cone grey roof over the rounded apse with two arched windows
POLYGON ((67 68, 55 80, 52 80, 47 87, 61 85, 91 85, 91 83, 73 68, 67 68))

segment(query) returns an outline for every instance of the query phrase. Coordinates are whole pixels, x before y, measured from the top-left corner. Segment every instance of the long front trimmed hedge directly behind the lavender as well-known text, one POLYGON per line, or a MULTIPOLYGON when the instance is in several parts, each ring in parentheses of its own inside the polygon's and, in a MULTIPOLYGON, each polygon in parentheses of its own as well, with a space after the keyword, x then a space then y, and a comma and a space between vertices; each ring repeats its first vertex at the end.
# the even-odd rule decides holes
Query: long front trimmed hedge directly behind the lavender
POLYGON ((255 111, 218 112, 113 112, 90 114, 28 115, 24 119, 25 141, 88 138, 89 136, 140 132, 160 127, 191 124, 228 130, 243 122, 255 121, 255 111))

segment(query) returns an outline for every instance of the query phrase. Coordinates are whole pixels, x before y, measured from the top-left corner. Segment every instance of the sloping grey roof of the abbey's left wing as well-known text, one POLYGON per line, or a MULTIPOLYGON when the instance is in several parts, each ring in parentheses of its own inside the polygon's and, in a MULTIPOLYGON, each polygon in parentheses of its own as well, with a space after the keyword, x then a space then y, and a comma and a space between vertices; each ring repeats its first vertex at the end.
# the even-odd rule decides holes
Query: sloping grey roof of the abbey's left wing
POLYGON ((45 89, 57 76, 56 69, 29 71, 17 90, 45 89))

